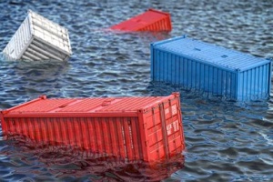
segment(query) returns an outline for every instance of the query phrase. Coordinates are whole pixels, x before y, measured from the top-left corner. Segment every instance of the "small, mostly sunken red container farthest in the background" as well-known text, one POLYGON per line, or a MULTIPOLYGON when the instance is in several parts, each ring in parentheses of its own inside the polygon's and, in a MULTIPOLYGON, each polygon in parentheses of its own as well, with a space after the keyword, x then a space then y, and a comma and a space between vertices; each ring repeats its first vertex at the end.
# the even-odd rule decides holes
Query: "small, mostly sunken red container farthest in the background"
POLYGON ((171 31, 172 25, 168 13, 148 9, 147 12, 136 15, 118 25, 113 25, 110 29, 122 31, 171 31))

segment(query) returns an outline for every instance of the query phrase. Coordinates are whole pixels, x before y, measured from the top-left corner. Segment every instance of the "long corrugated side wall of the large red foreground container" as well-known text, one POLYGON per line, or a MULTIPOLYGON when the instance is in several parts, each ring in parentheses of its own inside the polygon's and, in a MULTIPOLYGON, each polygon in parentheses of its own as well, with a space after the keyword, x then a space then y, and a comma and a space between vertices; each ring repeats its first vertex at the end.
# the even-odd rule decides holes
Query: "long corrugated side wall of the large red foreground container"
POLYGON ((6 133, 22 135, 37 145, 66 145, 106 156, 143 160, 142 132, 133 117, 8 117, 6 133))

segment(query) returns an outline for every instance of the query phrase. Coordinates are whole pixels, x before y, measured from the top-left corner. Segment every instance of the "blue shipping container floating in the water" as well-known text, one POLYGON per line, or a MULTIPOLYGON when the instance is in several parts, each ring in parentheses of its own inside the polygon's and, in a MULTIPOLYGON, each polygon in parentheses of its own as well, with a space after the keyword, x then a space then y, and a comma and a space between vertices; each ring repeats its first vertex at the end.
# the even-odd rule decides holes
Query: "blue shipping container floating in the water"
POLYGON ((271 61, 185 35, 151 44, 151 78, 234 100, 266 99, 271 61))

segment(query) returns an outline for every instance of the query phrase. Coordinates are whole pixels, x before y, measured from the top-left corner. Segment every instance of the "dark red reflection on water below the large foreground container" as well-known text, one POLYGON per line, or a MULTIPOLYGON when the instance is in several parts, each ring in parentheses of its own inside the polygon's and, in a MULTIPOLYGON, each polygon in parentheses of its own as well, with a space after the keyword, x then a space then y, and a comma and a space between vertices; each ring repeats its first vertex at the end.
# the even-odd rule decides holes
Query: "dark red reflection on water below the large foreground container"
POLYGON ((8 136, 5 142, 0 157, 11 158, 0 163, 13 172, 6 174, 0 167, 3 179, 24 178, 27 170, 27 173, 35 174, 33 180, 176 181, 171 176, 184 167, 185 161, 183 155, 154 164, 126 161, 75 147, 37 146, 25 136, 8 136), (13 170, 18 166, 25 167, 13 170))

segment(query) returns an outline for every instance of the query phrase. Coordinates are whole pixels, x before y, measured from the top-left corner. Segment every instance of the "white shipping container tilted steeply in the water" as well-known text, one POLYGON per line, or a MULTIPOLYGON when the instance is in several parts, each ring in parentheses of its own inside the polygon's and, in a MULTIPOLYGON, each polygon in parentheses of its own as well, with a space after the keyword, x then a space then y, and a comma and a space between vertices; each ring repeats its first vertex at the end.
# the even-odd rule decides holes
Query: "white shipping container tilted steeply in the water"
POLYGON ((5 46, 3 53, 14 60, 67 61, 72 50, 65 27, 28 10, 24 22, 5 46))

